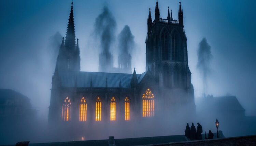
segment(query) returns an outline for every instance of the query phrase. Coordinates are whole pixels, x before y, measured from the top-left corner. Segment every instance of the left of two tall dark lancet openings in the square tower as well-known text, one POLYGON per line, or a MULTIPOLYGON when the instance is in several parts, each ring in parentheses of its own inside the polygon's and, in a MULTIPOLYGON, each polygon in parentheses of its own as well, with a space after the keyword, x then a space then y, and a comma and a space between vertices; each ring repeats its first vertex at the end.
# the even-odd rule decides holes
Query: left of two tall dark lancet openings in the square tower
POLYGON ((169 39, 168 39, 168 33, 163 32, 161 35, 161 48, 162 48, 162 59, 168 60, 168 50, 169 50, 169 39))

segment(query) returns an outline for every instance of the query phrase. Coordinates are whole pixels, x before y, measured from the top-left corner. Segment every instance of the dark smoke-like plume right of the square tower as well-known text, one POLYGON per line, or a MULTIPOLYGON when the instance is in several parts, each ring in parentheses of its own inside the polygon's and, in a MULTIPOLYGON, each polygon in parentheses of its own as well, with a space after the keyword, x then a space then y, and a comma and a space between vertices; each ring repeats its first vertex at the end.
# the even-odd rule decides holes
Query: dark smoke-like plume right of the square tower
POLYGON ((208 44, 206 38, 203 38, 199 43, 197 50, 198 62, 197 68, 200 70, 203 76, 203 92, 207 92, 207 78, 211 72, 210 63, 212 60, 211 46, 208 44))

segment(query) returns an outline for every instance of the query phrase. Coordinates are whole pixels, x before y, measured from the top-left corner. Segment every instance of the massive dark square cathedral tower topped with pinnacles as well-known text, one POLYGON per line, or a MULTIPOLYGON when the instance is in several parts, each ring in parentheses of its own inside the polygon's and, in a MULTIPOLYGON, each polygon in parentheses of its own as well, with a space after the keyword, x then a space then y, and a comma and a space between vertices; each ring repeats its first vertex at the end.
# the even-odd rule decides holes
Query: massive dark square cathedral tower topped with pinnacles
POLYGON ((187 39, 183 26, 183 11, 173 20, 168 7, 167 19, 159 18, 156 2, 155 20, 151 12, 147 19, 146 69, 149 67, 160 87, 190 88, 191 79, 187 58, 187 39))

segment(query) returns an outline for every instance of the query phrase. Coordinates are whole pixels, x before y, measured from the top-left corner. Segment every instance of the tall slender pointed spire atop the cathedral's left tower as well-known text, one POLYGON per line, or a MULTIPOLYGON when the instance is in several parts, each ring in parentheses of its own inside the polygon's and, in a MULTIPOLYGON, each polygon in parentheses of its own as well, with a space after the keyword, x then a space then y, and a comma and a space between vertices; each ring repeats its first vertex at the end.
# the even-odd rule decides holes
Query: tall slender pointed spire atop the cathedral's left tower
POLYGON ((75 25, 73 14, 73 2, 71 3, 69 22, 66 32, 65 47, 67 47, 67 49, 75 49, 75 25))

